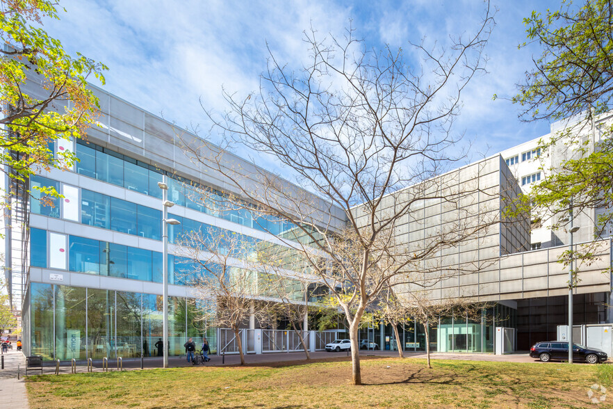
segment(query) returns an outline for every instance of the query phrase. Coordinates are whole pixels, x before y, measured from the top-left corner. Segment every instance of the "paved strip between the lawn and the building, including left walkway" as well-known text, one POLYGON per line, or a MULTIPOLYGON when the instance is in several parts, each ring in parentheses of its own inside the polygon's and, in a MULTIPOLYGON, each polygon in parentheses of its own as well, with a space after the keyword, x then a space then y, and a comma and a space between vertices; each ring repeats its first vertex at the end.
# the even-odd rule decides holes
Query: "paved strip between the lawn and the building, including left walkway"
MULTIPOLYGON (((381 357, 397 357, 398 353, 394 351, 360 351, 362 356, 381 356, 381 357)), ((404 353, 405 358, 425 358, 425 353, 404 353)), ((329 352, 313 352, 311 358, 320 360, 325 358, 347 358, 346 352, 329 353, 329 352)), ((461 354, 461 353, 432 353, 432 359, 448 359, 448 360, 476 360, 476 361, 498 361, 498 362, 538 362, 534 358, 530 358, 528 353, 517 353, 512 355, 492 355, 492 354, 461 354)), ((261 355, 246 355, 245 362, 247 364, 265 365, 273 362, 288 362, 296 360, 304 360, 306 356, 302 352, 295 353, 264 353, 261 355)), ((0 369, 0 406, 3 408, 22 409, 28 408, 28 399, 26 395, 26 386, 24 384, 24 368, 25 358, 21 352, 10 351, 4 355, 4 367, 0 369), (17 380, 17 365, 19 365, 20 380, 17 380)), ((240 358, 238 355, 227 355, 224 358, 217 355, 211 355, 211 362, 207 362, 207 366, 221 366, 239 364, 240 358)), ((93 362, 95 372, 101 372, 102 362, 93 362)), ((170 367, 186 367, 190 366, 183 357, 172 357, 169 359, 170 367)), ((146 369, 159 368, 162 365, 162 358, 145 358, 143 367, 146 369)), ((124 370, 140 369, 140 359, 126 359, 123 361, 124 370)), ((110 371, 117 370, 117 361, 111 360, 108 365, 110 371)), ((43 368, 44 374, 55 374, 54 362, 46 362, 43 368)), ((87 371, 87 362, 78 362, 76 371, 79 373, 87 371)), ((60 373, 70 374, 71 368, 69 362, 63 362, 60 366, 60 373)), ((35 372, 36 374, 36 372, 35 372)))

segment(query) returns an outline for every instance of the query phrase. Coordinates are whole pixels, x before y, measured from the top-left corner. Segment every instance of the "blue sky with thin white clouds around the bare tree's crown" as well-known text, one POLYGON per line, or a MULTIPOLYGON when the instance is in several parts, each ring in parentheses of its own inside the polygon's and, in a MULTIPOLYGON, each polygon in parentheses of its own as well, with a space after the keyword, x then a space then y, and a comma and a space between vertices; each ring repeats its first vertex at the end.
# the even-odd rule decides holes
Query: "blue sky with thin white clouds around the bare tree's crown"
MULTIPOLYGON (((222 110, 222 86, 247 94, 265 69, 266 42, 293 67, 306 57, 302 31, 341 34, 352 19, 368 47, 409 50, 409 40, 437 40, 473 32, 484 3, 472 1, 196 1, 63 0, 67 13, 45 29, 67 51, 102 61, 106 90, 183 127, 209 129, 200 106, 222 110)), ((546 122, 523 123, 509 102, 539 50, 518 51, 523 18, 559 1, 492 1, 496 26, 486 53, 488 74, 464 93, 456 132, 474 155, 493 154, 549 131, 546 122)), ((211 136, 215 142, 215 135, 211 136)), ((473 157, 472 159, 476 159, 473 157)))

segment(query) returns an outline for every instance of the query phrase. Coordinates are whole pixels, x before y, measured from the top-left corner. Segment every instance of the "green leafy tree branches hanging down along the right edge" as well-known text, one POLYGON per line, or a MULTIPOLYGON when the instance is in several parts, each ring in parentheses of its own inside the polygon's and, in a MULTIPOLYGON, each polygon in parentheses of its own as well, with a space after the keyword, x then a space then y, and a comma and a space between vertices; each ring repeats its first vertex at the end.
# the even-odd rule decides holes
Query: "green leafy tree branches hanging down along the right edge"
MULTIPOLYGON (((613 141, 611 122, 603 114, 612 110, 613 1, 586 0, 577 5, 562 1, 559 10, 543 16, 535 11, 524 19, 528 42, 541 47, 534 67, 518 85, 512 102, 522 107, 520 118, 562 120, 562 131, 540 141, 542 157, 552 157, 545 178, 523 197, 525 211, 553 218, 553 229, 568 223, 571 209, 578 214, 600 208, 595 236, 612 222, 613 141)), ((544 161, 542 162, 544 163, 544 161)), ((594 248, 582 251, 589 259, 594 248)), ((566 254, 564 259, 568 259, 566 254)))

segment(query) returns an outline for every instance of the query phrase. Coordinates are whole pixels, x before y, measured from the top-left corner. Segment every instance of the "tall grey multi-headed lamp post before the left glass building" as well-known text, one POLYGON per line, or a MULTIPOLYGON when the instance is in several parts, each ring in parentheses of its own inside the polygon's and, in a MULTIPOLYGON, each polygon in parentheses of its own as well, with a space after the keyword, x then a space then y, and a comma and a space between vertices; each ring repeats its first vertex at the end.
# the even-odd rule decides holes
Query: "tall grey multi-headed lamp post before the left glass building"
POLYGON ((168 218, 168 208, 173 207, 174 203, 168 200, 167 177, 163 176, 162 182, 158 186, 162 189, 162 348, 163 348, 163 367, 168 367, 168 225, 178 225, 180 222, 174 218, 168 218))

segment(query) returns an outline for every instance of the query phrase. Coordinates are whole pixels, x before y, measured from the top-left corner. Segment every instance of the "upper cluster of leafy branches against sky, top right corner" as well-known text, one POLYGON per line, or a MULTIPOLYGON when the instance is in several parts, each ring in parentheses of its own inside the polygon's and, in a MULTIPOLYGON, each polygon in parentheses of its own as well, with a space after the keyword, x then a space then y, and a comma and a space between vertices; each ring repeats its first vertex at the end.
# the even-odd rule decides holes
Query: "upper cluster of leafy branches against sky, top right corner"
POLYGON ((563 0, 559 10, 524 19, 528 42, 541 55, 512 101, 530 120, 559 120, 611 110, 613 97, 613 5, 610 0, 586 0, 582 7, 563 0))

